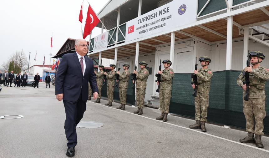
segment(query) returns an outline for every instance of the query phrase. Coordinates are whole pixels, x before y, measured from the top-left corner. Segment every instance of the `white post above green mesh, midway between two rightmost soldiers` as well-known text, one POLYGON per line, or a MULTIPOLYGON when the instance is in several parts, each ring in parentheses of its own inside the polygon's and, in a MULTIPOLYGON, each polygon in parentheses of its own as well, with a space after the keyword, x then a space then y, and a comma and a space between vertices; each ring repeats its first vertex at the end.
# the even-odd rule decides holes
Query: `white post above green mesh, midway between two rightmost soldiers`
POLYGON ((227 18, 227 46, 226 46, 226 70, 232 67, 232 36, 233 36, 233 17, 227 18))

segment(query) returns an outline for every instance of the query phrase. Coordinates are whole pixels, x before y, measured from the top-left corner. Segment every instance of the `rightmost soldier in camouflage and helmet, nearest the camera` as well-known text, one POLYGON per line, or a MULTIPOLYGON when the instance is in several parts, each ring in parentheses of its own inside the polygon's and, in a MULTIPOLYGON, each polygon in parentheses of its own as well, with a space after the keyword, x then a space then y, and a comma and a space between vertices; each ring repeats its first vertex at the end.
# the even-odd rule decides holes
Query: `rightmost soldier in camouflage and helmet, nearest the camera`
MULTIPOLYGON (((261 142, 261 135, 263 131, 263 119, 266 116, 265 112, 265 82, 269 79, 269 69, 261 67, 262 59, 265 59, 260 51, 251 52, 249 59, 252 65, 246 67, 243 71, 249 72, 249 100, 243 99, 243 111, 246 117, 246 131, 247 136, 240 139, 241 143, 255 143, 259 148, 263 148, 261 142), (255 128, 254 128, 255 126, 255 128), (254 139, 255 134, 255 139, 254 139)), ((243 71, 237 78, 237 84, 242 87, 243 97, 246 93, 245 78, 243 71)))

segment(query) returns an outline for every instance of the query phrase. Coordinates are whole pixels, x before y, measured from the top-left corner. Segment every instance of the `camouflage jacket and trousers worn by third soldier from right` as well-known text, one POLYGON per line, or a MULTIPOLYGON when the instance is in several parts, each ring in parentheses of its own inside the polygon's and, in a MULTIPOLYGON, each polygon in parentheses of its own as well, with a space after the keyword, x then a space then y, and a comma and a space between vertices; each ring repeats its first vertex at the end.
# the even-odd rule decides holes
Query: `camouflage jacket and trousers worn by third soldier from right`
POLYGON ((174 71, 171 68, 162 70, 161 84, 160 84, 160 110, 161 113, 169 113, 169 105, 172 91, 172 79, 174 77, 174 71))

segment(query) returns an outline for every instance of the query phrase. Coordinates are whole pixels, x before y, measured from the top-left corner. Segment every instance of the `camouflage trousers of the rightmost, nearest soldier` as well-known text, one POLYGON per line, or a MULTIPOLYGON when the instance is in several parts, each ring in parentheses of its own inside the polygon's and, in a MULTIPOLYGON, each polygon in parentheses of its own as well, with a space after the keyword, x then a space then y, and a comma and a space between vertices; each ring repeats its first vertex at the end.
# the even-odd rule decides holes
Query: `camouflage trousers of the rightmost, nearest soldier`
POLYGON ((255 135, 264 135, 262 131, 263 119, 266 116, 265 98, 249 99, 249 101, 243 99, 243 111, 246 117, 246 131, 255 135))

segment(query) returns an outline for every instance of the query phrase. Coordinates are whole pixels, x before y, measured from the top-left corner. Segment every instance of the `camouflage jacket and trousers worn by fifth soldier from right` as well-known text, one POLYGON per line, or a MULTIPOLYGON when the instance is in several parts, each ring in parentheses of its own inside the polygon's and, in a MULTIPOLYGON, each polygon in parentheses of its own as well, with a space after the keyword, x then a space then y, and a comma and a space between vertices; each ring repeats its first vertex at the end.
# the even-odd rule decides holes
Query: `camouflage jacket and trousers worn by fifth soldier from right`
POLYGON ((130 78, 130 71, 124 71, 119 75, 119 99, 121 104, 126 104, 127 87, 130 78))

